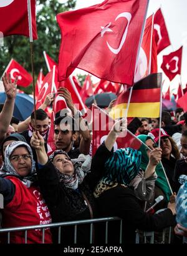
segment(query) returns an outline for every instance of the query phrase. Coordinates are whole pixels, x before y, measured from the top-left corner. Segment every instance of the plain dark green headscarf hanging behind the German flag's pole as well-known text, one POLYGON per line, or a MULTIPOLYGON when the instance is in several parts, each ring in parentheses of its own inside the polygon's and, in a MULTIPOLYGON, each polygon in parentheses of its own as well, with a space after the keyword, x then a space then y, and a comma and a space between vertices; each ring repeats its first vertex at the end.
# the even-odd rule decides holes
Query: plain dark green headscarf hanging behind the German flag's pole
MULTIPOLYGON (((151 139, 150 136, 148 135, 138 135, 137 136, 138 139, 140 139, 143 143, 146 142, 146 140, 148 139, 151 139)), ((151 139, 153 140, 153 139, 151 139)), ((154 140, 153 140, 154 142, 154 140)), ((155 143, 155 142, 154 142, 155 143)), ((146 147, 145 145, 141 144, 141 147, 139 149, 139 151, 141 152, 141 164, 140 164, 140 168, 142 170, 145 170, 147 165, 148 165, 148 162, 149 162, 149 158, 148 158, 148 155, 147 155, 147 152, 146 152, 146 147)), ((160 189, 164 192, 165 196, 166 196, 166 199, 170 200, 170 195, 171 195, 171 190, 170 190, 170 187, 168 185, 168 182, 166 180, 166 177, 165 177, 165 174, 163 172, 163 169, 161 167, 161 164, 157 164, 156 165, 156 174, 157 174, 157 179, 155 181, 155 185, 157 185, 158 187, 160 187, 160 189)))

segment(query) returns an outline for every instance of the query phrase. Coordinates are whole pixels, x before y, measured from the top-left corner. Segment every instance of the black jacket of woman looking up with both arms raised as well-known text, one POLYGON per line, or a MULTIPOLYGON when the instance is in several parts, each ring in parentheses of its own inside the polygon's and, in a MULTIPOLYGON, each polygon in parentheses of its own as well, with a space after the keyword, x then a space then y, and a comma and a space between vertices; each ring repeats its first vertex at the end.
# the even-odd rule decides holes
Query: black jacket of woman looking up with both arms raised
MULTIPOLYGON (((84 181, 79 185, 77 190, 69 189, 62 182, 59 182, 59 177, 52 163, 47 162, 41 169, 37 168, 39 186, 49 207, 52 222, 90 219, 90 210, 85 203, 82 192, 84 192, 92 206, 93 218, 98 217, 93 189, 103 175, 103 168, 101 170, 98 168, 100 158, 102 158, 100 150, 97 150, 95 155, 98 155, 97 163, 95 161, 93 162, 91 171, 84 178, 84 181)), ((78 225, 77 230, 78 243, 89 242, 90 225, 89 227, 87 225, 78 225)), ((68 228, 64 232, 65 235, 62 237, 62 243, 73 243, 73 231, 68 228)))

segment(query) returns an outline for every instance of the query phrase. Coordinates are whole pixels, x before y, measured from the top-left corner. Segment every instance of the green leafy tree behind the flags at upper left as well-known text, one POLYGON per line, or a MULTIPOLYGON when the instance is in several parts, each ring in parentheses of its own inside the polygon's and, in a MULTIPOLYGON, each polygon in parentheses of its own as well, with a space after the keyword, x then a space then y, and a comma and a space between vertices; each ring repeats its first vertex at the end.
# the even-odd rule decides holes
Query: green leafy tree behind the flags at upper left
MULTIPOLYGON (((60 47, 60 29, 55 20, 55 16, 75 7, 75 0, 67 0, 60 4, 58 0, 37 0, 37 35, 38 39, 34 41, 34 73, 35 81, 41 67, 44 74, 47 74, 46 62, 43 57, 43 51, 46 51, 50 57, 57 62, 60 47)), ((4 38, 4 47, 0 47, 0 75, 4 72, 7 64, 15 59, 28 72, 31 69, 31 53, 29 39, 24 36, 8 36, 4 38)), ((20 87, 26 93, 32 93, 32 85, 24 88, 20 87)))

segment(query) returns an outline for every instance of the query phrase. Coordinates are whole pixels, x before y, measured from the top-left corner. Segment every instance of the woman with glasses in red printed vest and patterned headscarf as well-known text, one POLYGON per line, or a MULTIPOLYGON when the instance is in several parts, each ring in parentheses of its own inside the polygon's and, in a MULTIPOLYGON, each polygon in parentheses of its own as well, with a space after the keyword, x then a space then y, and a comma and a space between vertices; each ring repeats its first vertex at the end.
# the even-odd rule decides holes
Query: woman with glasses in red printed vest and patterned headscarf
MULTIPOLYGON (((4 153, 4 173, 0 193, 4 196, 2 227, 50 224, 49 209, 37 186, 35 162, 31 147, 25 142, 12 142, 4 153)), ((11 232, 11 243, 25 243, 24 232, 11 232)), ((51 243, 50 230, 45 230, 45 243, 51 243)), ((42 230, 28 230, 27 243, 41 244, 42 230)))

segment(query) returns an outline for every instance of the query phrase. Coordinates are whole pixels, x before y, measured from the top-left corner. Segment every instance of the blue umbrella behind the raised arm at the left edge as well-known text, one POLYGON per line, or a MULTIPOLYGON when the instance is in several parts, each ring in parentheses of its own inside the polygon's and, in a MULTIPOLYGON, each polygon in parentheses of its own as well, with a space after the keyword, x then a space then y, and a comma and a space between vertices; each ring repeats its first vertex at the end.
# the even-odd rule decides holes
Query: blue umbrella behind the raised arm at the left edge
MULTIPOLYGON (((5 92, 0 92, 0 102, 4 103, 6 99, 5 92)), ((34 109, 34 100, 31 96, 23 93, 18 93, 16 95, 16 100, 14 104, 13 116, 24 121, 27 117, 31 116, 31 113, 34 109)))

